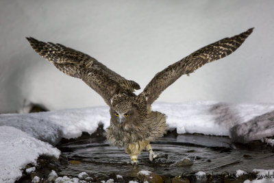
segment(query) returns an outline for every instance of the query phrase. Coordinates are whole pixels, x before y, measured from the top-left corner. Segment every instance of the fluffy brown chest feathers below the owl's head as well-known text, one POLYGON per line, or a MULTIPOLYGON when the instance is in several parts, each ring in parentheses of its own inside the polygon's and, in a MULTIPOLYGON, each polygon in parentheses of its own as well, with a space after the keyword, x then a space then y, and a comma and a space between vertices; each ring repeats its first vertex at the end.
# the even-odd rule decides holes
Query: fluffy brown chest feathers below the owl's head
POLYGON ((160 112, 151 111, 141 123, 136 123, 125 130, 121 125, 110 123, 107 129, 107 138, 116 147, 126 147, 138 141, 155 141, 166 132, 166 117, 160 112))

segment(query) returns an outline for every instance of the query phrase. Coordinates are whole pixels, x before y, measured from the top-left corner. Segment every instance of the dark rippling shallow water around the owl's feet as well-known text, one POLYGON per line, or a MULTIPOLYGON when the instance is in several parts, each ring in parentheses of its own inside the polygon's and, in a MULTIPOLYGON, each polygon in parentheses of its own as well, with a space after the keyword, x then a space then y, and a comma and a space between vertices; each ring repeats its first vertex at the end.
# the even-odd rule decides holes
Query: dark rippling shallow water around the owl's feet
POLYGON ((241 169, 251 172, 253 169, 274 169, 274 154, 268 149, 248 149, 234 145, 227 137, 203 135, 178 135, 160 138, 152 144, 153 151, 167 154, 149 162, 147 151, 138 157, 138 166, 127 164, 130 160, 123 149, 111 147, 104 140, 89 138, 85 141, 68 143, 61 146, 62 156, 69 160, 78 160, 80 164, 67 164, 60 167, 60 175, 77 175, 82 171, 105 176, 115 173, 125 176, 136 176, 141 170, 148 170, 158 175, 189 175, 197 171, 210 174, 228 172, 235 174, 241 169), (174 162, 190 158, 191 167, 175 167, 174 162))

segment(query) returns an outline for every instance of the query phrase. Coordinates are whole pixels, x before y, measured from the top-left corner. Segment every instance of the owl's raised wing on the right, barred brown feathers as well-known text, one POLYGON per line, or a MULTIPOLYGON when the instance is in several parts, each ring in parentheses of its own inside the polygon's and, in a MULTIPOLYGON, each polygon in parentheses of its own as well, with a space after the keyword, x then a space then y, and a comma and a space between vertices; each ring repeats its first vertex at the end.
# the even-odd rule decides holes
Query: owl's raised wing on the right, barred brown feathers
POLYGON ((211 45, 191 53, 186 58, 171 64, 160 73, 157 73, 140 95, 146 97, 148 104, 153 103, 162 91, 173 84, 181 75, 188 75, 204 64, 219 60, 234 52, 242 45, 242 42, 245 41, 252 31, 253 28, 248 29, 247 32, 233 36, 232 38, 224 38, 214 42, 211 45))

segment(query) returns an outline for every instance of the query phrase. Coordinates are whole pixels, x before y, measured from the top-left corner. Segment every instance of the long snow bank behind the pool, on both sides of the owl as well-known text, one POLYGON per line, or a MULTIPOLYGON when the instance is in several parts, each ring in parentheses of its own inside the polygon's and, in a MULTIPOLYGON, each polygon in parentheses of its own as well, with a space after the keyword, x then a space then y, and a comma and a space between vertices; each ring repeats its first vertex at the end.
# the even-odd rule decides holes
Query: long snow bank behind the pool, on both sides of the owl
MULTIPOLYGON (((170 129, 179 134, 201 133, 231 136, 248 142, 274 136, 274 105, 230 104, 214 101, 154 103, 153 110, 167 116, 170 129)), ((23 132, 56 144, 61 138, 75 138, 82 132, 95 132, 99 123, 110 125, 108 106, 39 112, 0 114, 0 125, 10 125, 23 132)))

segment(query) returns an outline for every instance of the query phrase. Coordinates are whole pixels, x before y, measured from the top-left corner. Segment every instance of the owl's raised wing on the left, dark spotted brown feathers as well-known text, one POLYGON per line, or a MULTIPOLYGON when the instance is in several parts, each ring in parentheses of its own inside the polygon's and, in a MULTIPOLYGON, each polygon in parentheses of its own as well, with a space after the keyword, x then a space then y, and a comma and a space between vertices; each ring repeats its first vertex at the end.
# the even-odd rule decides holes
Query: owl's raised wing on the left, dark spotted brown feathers
POLYGON ((140 89, 136 82, 126 80, 85 53, 52 42, 42 42, 34 38, 27 40, 40 56, 49 60, 63 73, 82 79, 99 93, 109 106, 114 94, 125 93, 132 96, 135 95, 135 89, 140 89))

